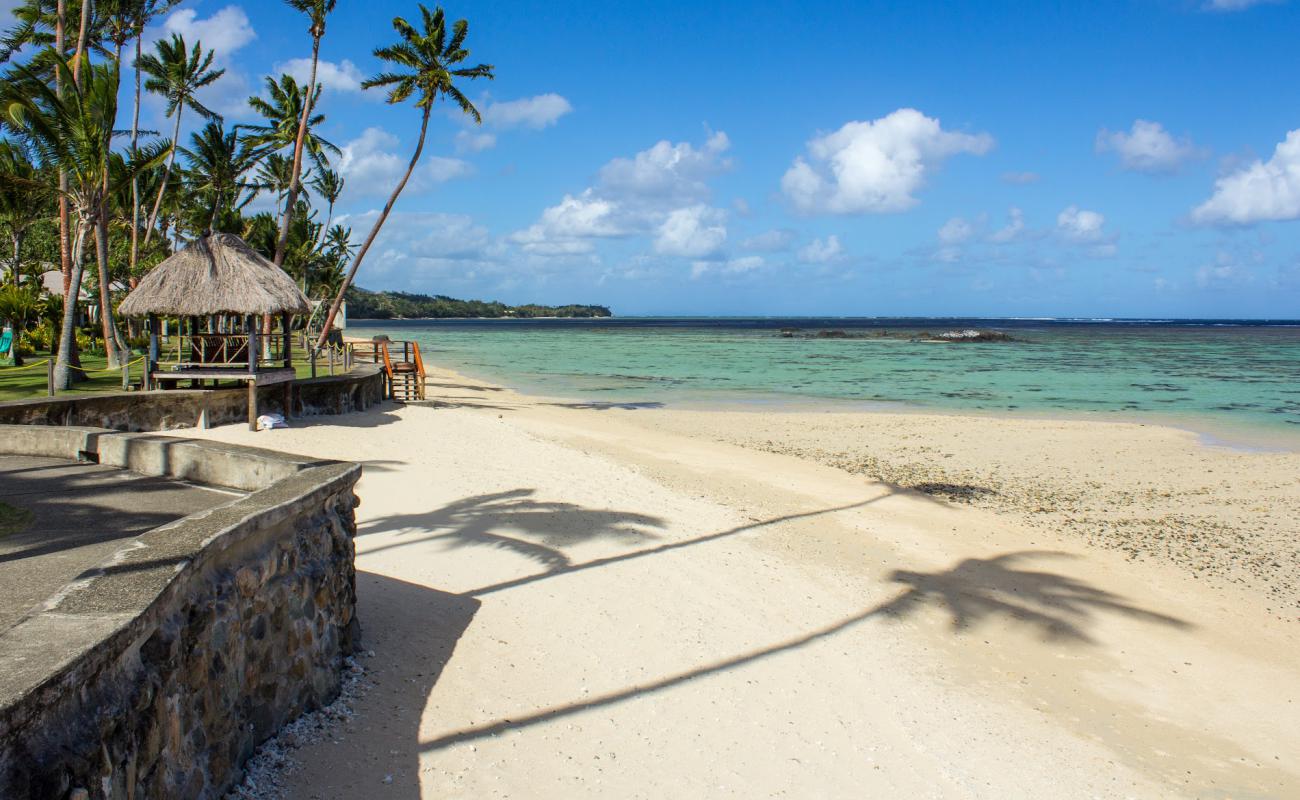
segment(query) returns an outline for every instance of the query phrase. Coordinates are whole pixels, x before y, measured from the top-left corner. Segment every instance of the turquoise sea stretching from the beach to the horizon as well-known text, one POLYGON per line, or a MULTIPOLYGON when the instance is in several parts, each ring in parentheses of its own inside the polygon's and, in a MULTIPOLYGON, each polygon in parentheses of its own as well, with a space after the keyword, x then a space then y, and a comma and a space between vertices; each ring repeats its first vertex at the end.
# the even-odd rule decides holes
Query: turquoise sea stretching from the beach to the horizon
POLYGON ((426 362, 608 403, 866 403, 1112 415, 1300 436, 1300 325, 1231 321, 614 319, 354 321, 426 362), (784 338, 997 329, 1014 342, 784 338))

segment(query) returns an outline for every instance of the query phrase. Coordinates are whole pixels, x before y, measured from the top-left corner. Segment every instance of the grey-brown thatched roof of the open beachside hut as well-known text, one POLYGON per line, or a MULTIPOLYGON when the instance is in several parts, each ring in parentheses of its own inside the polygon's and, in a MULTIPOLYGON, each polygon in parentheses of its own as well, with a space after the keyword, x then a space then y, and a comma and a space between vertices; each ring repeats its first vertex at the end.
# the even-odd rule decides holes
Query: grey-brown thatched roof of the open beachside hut
POLYGON ((125 316, 150 313, 307 313, 294 278, 230 233, 202 237, 153 268, 122 300, 125 316))

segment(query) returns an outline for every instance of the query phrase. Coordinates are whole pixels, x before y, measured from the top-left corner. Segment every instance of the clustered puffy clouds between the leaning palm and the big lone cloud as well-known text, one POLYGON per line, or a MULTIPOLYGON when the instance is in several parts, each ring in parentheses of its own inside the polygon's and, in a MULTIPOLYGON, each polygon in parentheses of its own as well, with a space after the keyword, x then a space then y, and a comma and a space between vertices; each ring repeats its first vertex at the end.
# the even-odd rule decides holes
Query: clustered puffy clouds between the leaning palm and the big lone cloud
POLYGON ((593 238, 649 235, 660 255, 715 255, 727 238, 725 212, 707 204, 706 180, 729 167, 727 134, 702 147, 659 142, 601 168, 594 186, 564 195, 510 241, 538 255, 593 250, 593 238))

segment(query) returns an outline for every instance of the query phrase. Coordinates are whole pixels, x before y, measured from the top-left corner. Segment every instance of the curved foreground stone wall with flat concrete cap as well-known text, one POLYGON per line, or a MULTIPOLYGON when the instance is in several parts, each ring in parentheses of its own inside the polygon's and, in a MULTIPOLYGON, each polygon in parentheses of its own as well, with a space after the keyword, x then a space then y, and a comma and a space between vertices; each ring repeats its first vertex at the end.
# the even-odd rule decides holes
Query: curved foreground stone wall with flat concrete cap
POLYGON ((337 696, 359 466, 94 428, 0 427, 5 450, 265 488, 124 540, 0 633, 0 797, 220 797, 337 696))

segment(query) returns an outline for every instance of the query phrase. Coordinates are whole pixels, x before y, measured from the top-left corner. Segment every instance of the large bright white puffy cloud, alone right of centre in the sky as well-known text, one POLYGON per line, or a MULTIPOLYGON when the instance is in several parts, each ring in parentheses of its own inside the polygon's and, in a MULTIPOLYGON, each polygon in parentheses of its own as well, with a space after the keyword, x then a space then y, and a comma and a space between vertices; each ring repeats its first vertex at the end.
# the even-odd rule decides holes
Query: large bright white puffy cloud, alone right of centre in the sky
POLYGON ((884 213, 905 211, 950 156, 983 155, 988 134, 944 130, 939 120, 901 108, 870 122, 848 122, 809 142, 781 178, 781 190, 803 212, 884 213))

